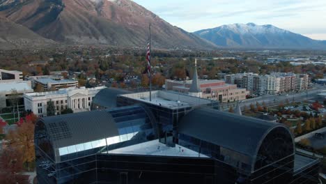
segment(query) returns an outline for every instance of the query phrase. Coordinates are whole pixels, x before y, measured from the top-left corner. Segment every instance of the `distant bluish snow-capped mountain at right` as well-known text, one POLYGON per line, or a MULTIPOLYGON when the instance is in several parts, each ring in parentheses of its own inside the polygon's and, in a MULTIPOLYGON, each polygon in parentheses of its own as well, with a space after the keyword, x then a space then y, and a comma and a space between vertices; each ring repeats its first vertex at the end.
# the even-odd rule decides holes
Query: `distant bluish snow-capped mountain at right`
POLYGON ((223 47, 326 49, 326 41, 313 40, 270 24, 228 24, 194 33, 223 47))

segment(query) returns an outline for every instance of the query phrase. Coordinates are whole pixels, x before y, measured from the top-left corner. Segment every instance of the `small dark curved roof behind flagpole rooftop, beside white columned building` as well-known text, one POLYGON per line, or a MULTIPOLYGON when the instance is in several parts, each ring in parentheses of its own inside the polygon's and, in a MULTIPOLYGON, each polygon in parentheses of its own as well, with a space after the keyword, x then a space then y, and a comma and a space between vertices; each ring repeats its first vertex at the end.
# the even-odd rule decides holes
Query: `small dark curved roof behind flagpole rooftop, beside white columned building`
POLYGON ((126 91, 123 89, 116 88, 106 88, 102 89, 95 95, 92 102, 92 109, 97 109, 95 106, 99 106, 100 109, 109 109, 116 107, 116 96, 131 93, 130 91, 126 91))

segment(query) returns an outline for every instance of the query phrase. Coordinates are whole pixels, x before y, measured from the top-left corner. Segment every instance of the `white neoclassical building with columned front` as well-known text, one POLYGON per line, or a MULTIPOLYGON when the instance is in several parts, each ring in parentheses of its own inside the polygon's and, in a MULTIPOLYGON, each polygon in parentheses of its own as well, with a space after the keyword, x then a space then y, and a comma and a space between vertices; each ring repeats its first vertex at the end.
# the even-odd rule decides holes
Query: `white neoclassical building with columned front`
POLYGON ((64 109, 68 108, 73 112, 89 111, 94 96, 104 88, 86 89, 81 87, 42 93, 25 93, 25 109, 31 110, 37 116, 47 116, 47 105, 49 101, 52 101, 56 107, 56 114, 61 114, 64 109))

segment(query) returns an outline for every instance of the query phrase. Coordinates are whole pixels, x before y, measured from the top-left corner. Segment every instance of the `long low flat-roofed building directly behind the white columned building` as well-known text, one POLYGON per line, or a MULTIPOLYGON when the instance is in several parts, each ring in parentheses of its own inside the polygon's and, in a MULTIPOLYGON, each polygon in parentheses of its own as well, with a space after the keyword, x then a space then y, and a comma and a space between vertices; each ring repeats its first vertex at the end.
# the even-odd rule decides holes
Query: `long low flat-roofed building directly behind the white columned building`
POLYGON ((63 88, 72 88, 78 87, 78 81, 72 79, 62 79, 58 76, 52 75, 43 75, 43 76, 30 76, 26 77, 26 79, 32 81, 32 86, 40 84, 45 91, 49 91, 50 89, 63 89, 63 88))

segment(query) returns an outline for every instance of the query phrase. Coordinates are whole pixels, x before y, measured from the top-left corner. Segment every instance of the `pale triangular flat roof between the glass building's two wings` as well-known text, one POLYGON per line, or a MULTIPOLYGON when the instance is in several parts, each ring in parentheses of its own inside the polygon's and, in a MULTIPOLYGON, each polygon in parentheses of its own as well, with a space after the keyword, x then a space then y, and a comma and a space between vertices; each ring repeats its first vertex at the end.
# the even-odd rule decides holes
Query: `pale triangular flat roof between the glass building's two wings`
POLYGON ((118 148, 111 151, 104 151, 108 154, 119 155, 155 155, 171 157, 191 157, 191 158, 208 158, 208 156, 199 154, 188 148, 176 144, 176 147, 169 147, 160 143, 158 140, 148 141, 141 144, 135 144, 124 148, 118 148))

